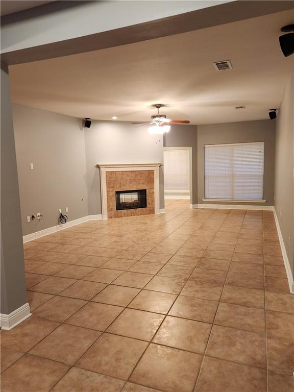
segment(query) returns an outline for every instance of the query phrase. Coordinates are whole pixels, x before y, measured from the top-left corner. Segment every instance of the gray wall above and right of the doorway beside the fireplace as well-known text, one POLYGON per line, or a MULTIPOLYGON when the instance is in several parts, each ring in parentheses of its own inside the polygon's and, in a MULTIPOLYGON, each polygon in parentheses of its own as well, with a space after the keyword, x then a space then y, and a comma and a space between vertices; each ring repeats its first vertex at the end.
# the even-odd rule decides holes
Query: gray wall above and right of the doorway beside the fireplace
POLYGON ((192 192, 191 204, 198 203, 197 181, 197 125, 173 125, 164 135, 164 147, 192 148, 192 192))

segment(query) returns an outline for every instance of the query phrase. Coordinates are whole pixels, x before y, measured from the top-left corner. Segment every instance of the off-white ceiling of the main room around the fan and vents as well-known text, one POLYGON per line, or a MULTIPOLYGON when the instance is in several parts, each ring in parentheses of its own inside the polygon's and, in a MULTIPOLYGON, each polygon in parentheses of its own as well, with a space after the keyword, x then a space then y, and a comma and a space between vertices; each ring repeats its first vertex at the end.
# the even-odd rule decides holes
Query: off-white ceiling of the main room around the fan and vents
POLYGON ((189 33, 10 67, 12 101, 75 117, 215 124, 268 118, 294 66, 280 50, 285 11, 189 33), (216 71, 215 61, 233 69, 216 71), (246 109, 235 110, 244 105, 246 109))

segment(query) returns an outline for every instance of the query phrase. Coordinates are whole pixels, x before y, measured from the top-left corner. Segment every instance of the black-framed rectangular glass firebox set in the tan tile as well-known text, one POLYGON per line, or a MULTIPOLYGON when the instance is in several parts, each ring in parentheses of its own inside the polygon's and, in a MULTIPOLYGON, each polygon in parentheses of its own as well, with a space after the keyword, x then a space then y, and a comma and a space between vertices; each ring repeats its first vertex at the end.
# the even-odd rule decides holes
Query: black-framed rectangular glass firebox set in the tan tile
POLYGON ((116 210, 131 210, 132 208, 146 208, 146 189, 117 190, 115 192, 116 210))

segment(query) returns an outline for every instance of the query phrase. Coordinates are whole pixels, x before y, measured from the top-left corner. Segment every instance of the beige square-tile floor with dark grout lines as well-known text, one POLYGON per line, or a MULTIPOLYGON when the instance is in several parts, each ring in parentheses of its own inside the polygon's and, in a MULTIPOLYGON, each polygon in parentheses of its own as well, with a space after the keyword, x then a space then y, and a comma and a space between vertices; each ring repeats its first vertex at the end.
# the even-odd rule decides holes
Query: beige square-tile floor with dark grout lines
POLYGON ((273 213, 166 209, 25 244, 33 316, 2 331, 2 392, 293 390, 273 213))

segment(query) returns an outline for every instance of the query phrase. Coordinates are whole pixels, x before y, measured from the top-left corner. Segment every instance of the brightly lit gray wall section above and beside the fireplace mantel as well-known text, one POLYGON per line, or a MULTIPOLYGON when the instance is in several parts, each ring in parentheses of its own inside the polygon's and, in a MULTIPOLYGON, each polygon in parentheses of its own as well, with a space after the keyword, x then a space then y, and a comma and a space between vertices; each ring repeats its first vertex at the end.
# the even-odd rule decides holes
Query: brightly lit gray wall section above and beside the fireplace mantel
MULTIPOLYGON (((92 120, 85 128, 89 215, 101 214, 100 170, 97 164, 163 163, 162 136, 126 121, 92 120)), ((164 208, 160 167, 160 208, 164 208)))

